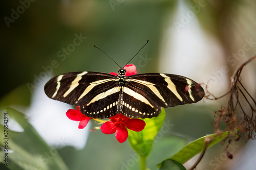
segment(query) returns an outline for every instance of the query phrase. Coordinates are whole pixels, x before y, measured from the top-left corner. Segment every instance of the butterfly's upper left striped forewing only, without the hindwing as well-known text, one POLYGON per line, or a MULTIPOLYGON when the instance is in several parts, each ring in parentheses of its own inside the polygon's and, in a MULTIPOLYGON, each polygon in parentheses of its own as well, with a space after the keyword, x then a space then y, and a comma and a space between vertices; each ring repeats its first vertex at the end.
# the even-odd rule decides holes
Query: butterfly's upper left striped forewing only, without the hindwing
POLYGON ((45 93, 53 100, 81 106, 116 84, 114 75, 90 71, 68 72, 49 80, 45 93))

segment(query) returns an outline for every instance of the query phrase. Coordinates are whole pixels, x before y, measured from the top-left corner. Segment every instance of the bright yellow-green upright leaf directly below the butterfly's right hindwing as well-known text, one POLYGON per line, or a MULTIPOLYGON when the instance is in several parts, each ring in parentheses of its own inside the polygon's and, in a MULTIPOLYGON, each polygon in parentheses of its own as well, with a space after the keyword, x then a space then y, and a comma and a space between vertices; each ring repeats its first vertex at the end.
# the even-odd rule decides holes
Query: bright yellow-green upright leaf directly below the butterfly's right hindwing
POLYGON ((145 128, 140 132, 129 130, 128 139, 132 148, 141 156, 147 157, 150 154, 154 139, 161 129, 165 118, 165 111, 153 118, 145 118, 145 128))

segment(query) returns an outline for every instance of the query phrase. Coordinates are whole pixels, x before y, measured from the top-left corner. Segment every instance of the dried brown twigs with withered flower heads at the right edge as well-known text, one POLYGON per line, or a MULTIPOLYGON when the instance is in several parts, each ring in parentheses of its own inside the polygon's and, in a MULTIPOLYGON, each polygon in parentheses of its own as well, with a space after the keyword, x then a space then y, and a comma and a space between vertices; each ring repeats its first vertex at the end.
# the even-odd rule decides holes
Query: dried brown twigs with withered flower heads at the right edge
MULTIPOLYGON (((225 131, 240 130, 240 135, 247 135, 247 140, 255 138, 253 133, 256 132, 256 102, 253 96, 247 91, 241 82, 241 72, 245 65, 255 60, 256 56, 242 63, 233 73, 230 81, 230 90, 226 107, 221 107, 220 110, 214 112, 215 116, 215 131, 219 131, 220 122, 226 124, 225 131)), ((214 98, 214 100, 222 98, 214 98)), ((214 95, 211 95, 214 96, 214 95)), ((212 100, 212 99, 211 99, 212 100)))

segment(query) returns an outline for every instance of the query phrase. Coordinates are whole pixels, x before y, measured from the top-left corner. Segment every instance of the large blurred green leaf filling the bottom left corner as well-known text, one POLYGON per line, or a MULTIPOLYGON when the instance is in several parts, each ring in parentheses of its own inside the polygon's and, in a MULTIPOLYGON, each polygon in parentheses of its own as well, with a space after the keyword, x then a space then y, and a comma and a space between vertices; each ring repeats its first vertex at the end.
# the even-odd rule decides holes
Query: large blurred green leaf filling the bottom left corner
MULTIPOLYGON (((4 113, 8 113, 8 168, 10 169, 68 169, 59 156, 57 149, 49 145, 38 135, 35 129, 28 123, 26 115, 12 109, 1 110, 1 119, 4 113), (9 129, 10 120, 15 120, 23 132, 15 132, 9 129)), ((2 122, 2 121, 1 121, 2 122)), ((4 124, 6 125, 6 124, 4 124)), ((4 126, 0 125, 0 131, 4 132, 4 126)), ((3 138, 2 138, 3 139, 3 138)), ((5 148, 5 143, 0 143, 5 148)), ((0 155, 7 152, 0 151, 0 155)), ((1 159, 2 163, 3 159, 1 159)))

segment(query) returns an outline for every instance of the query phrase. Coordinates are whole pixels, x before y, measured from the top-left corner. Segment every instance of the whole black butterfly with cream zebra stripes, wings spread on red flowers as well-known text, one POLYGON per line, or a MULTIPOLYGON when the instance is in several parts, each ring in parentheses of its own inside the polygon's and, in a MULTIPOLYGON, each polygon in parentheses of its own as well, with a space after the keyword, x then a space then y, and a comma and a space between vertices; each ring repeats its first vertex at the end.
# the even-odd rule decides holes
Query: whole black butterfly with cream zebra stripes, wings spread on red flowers
POLYGON ((117 76, 91 71, 68 72, 49 80, 45 93, 53 100, 79 106, 84 115, 93 118, 107 118, 117 113, 151 118, 158 116, 162 107, 196 103, 204 96, 200 84, 183 76, 162 73, 125 76, 125 72, 123 67, 117 76))

